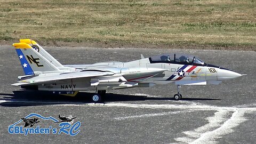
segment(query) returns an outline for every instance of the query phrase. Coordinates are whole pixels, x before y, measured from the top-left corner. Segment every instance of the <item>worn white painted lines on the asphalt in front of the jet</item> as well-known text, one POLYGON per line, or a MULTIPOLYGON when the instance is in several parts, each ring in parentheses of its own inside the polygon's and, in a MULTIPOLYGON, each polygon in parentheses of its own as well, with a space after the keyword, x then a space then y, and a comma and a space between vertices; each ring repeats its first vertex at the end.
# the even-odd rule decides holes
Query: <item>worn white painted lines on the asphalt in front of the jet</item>
MULTIPOLYGON (((130 107, 130 108, 152 108, 152 109, 180 109, 180 110, 216 110, 214 116, 207 117, 209 123, 198 127, 192 131, 185 131, 185 137, 175 138, 177 142, 181 143, 218 143, 216 140, 223 135, 231 133, 234 128, 239 124, 245 122, 247 119, 244 117, 245 113, 252 113, 256 111, 255 107, 218 107, 209 105, 199 105, 199 103, 191 103, 187 105, 155 105, 155 104, 131 104, 131 103, 83 103, 83 102, 54 102, 54 101, 19 101, 19 100, 0 100, 3 102, 13 103, 42 103, 51 104, 55 106, 107 106, 107 107, 130 107), (230 117, 230 113, 233 113, 230 117)), ((117 117, 117 120, 150 117, 150 116, 163 116, 169 114, 179 114, 177 112, 170 113, 155 113, 143 114, 126 117, 117 117)))

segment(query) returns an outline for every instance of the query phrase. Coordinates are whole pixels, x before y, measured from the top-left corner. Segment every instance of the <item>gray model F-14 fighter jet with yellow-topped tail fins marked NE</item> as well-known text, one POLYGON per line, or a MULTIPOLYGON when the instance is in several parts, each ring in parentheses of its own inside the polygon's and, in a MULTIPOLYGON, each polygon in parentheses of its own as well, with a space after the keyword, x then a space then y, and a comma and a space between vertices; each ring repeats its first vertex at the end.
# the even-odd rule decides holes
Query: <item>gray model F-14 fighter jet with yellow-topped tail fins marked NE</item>
POLYGON ((180 100, 180 85, 220 84, 242 76, 187 54, 162 54, 129 62, 100 62, 91 65, 61 65, 40 45, 30 39, 14 43, 25 76, 18 83, 25 90, 52 91, 75 96, 79 91, 95 91, 94 102, 101 101, 107 90, 130 87, 178 85, 175 100, 180 100))

